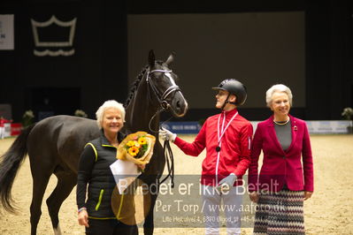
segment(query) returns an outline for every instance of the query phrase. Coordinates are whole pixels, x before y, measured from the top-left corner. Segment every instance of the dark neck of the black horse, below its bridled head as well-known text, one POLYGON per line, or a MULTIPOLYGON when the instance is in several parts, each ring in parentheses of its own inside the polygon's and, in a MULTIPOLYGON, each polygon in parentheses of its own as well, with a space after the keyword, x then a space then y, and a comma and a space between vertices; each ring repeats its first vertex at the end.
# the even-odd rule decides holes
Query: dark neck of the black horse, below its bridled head
POLYGON ((150 101, 148 84, 143 78, 134 93, 134 97, 127 105, 127 129, 133 133, 137 131, 150 133, 150 127, 152 130, 158 130, 159 115, 153 118, 149 127, 150 118, 153 117, 156 112, 157 106, 150 101))

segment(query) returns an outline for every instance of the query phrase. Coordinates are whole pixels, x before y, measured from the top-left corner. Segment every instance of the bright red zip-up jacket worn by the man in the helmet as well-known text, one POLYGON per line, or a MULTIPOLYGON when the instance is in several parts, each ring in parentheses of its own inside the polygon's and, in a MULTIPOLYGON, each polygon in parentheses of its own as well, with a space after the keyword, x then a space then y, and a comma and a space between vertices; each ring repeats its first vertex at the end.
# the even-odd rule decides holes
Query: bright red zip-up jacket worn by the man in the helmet
POLYGON ((174 144, 187 155, 200 155, 206 148, 201 178, 203 185, 217 186, 219 181, 230 173, 234 173, 238 178, 234 186, 242 185, 242 175, 248 170, 250 164, 253 129, 250 122, 237 112, 236 109, 223 111, 207 118, 192 143, 181 140, 179 137, 174 140, 174 144), (219 147, 218 133, 221 133, 222 125, 225 129, 232 117, 234 120, 220 139, 220 151, 218 152, 216 150, 219 147))

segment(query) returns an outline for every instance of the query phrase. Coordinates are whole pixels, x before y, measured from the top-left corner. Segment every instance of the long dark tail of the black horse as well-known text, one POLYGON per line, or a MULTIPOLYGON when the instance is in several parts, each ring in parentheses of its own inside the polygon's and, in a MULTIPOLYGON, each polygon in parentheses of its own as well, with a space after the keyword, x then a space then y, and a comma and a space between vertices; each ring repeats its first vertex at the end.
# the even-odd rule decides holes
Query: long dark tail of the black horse
POLYGON ((17 208, 13 207, 11 195, 13 180, 15 179, 21 163, 27 155, 27 138, 35 125, 24 129, 12 146, 0 157, 0 199, 4 209, 15 213, 17 208))

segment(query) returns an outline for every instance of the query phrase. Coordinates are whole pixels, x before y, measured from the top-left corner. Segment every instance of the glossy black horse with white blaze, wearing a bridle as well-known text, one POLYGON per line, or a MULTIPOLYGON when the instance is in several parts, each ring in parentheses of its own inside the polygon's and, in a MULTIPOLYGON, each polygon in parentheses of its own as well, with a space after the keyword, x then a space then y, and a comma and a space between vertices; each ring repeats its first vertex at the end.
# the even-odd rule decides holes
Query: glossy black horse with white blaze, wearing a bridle
MULTIPOLYGON (((158 130, 160 110, 170 110, 174 117, 182 117, 188 103, 175 84, 177 75, 169 69, 174 55, 165 62, 156 61, 153 50, 149 64, 137 76, 126 102, 126 123, 123 132, 158 130)), ((154 133, 157 138, 157 133, 154 133)), ((77 181, 81 151, 89 140, 100 135, 96 120, 83 117, 48 117, 25 129, 2 156, 0 163, 0 198, 5 210, 15 212, 12 205, 12 184, 20 163, 28 154, 33 178, 33 198, 30 207, 31 234, 36 233, 42 215, 42 197, 51 174, 58 184, 47 199, 51 223, 55 234, 61 234, 58 211, 72 192, 77 181)), ((147 184, 156 183, 165 168, 165 155, 159 141, 154 155, 146 166, 142 179, 147 184)), ((144 233, 153 233, 153 208, 157 195, 152 195, 150 212, 143 224, 144 233)))

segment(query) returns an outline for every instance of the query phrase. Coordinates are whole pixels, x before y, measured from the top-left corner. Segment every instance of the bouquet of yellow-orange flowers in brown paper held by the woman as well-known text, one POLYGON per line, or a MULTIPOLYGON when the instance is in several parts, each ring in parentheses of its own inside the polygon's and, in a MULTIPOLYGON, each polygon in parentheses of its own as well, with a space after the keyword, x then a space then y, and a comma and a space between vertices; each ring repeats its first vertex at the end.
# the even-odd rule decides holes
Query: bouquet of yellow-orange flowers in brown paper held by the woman
POLYGON ((145 132, 131 133, 119 143, 117 158, 136 164, 150 163, 156 137, 145 132))

